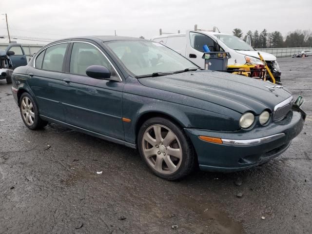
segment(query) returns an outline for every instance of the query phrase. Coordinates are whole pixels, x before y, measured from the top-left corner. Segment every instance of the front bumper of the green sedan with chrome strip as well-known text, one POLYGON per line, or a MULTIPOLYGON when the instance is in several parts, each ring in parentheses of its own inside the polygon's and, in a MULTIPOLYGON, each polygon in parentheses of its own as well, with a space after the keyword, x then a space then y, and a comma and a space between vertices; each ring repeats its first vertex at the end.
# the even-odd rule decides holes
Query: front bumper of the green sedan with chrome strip
POLYGON ((248 169, 279 156, 302 130, 304 120, 292 111, 280 121, 251 131, 215 132, 185 129, 191 138, 201 170, 234 172, 248 169), (222 138, 223 143, 203 141, 198 136, 222 138))

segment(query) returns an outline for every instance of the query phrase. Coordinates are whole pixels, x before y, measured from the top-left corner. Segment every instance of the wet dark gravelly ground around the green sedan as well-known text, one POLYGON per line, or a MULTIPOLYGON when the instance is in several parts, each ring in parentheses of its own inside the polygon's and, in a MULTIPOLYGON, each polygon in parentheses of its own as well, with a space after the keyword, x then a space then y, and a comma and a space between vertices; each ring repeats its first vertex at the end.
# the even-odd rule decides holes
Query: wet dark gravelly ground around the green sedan
POLYGON ((118 144, 57 124, 28 130, 1 80, 0 234, 311 234, 312 57, 278 61, 308 114, 288 151, 251 170, 176 182, 118 144))

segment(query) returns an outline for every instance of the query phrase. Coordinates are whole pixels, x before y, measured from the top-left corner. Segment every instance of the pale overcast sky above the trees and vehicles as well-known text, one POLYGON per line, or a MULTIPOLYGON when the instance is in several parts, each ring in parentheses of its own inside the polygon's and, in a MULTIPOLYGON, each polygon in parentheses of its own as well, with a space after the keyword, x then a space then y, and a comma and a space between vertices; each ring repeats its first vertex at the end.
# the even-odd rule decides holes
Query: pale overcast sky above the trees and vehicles
MULTIPOLYGON (((195 24, 224 33, 266 28, 286 36, 295 29, 312 30, 312 0, 0 0, 4 13, 12 36, 45 39, 114 35, 114 30, 118 36, 150 39, 159 28, 184 32, 195 24)), ((4 19, 0 15, 0 35, 7 35, 4 19)))

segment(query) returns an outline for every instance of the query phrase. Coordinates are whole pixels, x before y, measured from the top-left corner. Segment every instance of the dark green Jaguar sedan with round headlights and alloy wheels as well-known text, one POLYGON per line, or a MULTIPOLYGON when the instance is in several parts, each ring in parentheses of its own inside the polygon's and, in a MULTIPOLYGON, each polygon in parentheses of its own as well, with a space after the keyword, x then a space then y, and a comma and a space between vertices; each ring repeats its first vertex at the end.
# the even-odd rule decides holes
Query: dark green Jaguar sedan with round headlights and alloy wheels
POLYGON ((198 166, 233 172, 267 162, 290 146, 305 118, 303 99, 282 86, 201 70, 144 39, 55 41, 12 81, 29 129, 55 122, 136 148, 169 180, 198 166))

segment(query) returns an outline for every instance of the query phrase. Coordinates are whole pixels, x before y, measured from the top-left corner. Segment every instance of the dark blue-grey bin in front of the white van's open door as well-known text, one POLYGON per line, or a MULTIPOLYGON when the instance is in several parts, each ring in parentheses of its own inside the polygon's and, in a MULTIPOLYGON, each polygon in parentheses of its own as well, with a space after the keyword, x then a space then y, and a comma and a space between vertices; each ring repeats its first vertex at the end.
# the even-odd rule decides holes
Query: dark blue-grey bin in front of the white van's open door
POLYGON ((206 70, 226 71, 231 55, 229 52, 206 52, 202 58, 205 59, 206 70))

